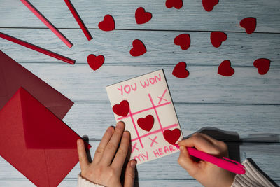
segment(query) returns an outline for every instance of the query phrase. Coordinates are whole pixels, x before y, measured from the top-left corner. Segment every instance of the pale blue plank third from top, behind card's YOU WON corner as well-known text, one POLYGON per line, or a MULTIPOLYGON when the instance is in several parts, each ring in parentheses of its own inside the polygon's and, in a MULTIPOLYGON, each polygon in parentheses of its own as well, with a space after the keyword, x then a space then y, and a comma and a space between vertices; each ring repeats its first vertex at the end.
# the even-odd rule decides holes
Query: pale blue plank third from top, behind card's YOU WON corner
POLYGON ((223 77, 218 67, 187 67, 188 78, 172 75, 173 66, 104 66, 92 71, 87 64, 24 64, 24 67, 74 102, 109 102, 106 86, 163 68, 174 102, 280 104, 279 68, 260 76, 255 67, 234 67, 223 77))

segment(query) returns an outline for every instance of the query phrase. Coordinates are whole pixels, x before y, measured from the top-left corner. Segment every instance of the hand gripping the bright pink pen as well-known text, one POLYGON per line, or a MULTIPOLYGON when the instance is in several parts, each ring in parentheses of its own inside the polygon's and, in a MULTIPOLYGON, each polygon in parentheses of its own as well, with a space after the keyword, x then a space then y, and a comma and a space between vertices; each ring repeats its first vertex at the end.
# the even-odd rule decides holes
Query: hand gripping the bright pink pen
POLYGON ((195 133, 192 137, 178 142, 180 146, 179 165, 197 179, 203 186, 226 187, 231 186, 235 174, 204 160, 195 161, 188 154, 186 147, 195 147, 197 150, 215 155, 218 158, 228 157, 228 146, 223 141, 213 139, 206 134, 195 133))

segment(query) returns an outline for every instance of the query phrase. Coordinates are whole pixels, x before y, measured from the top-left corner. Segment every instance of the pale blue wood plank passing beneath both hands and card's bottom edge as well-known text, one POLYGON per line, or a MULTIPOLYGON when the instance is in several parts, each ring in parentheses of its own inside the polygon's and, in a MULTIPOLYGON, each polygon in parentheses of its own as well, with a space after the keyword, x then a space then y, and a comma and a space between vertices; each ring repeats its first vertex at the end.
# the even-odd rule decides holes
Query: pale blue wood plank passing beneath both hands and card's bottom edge
MULTIPOLYGON (((90 141, 92 145, 91 155, 93 156, 95 149, 97 148, 99 141, 90 141)), ((232 143, 233 146, 237 146, 232 143)), ((272 180, 280 180, 279 177, 279 159, 280 144, 241 144, 240 145, 240 159, 241 161, 246 158, 253 158, 254 162, 263 170, 272 180), (269 162, 267 162, 269 160, 269 162)), ((137 166, 139 179, 193 179, 188 173, 181 168, 177 163, 179 153, 165 156, 158 160, 146 162, 137 166), (162 165, 165 165, 165 169, 162 169, 162 165)), ((25 179, 25 176, 20 174, 13 166, 8 164, 3 158, 0 158, 0 179, 25 179)), ((80 167, 77 164, 76 167, 66 176, 66 179, 76 179, 80 167)))

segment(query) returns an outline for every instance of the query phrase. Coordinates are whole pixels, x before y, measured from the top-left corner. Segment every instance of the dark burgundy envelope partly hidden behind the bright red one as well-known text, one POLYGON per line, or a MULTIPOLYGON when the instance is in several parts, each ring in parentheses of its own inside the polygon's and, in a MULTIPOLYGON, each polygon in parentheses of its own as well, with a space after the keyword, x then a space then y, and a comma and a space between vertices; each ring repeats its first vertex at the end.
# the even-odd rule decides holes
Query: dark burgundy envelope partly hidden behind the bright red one
POLYGON ((59 119, 64 118, 73 106, 70 99, 0 50, 0 110, 21 86, 59 119))

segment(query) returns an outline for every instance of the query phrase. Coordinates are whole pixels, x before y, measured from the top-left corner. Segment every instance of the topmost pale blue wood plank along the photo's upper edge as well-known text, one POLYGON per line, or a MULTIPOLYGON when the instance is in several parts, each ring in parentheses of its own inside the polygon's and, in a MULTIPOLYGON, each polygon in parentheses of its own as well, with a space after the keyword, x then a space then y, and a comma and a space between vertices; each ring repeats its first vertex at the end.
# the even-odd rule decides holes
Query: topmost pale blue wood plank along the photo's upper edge
MULTIPOLYGON (((280 4, 278 0, 224 0, 210 13, 204 11, 202 1, 183 1, 183 8, 166 8, 165 1, 147 0, 72 0, 85 25, 97 28, 104 15, 111 14, 117 29, 223 30, 243 32, 239 21, 246 17, 258 19, 256 32, 280 32, 280 4), (153 13, 150 22, 137 25, 135 10, 144 6, 153 13)), ((64 1, 31 1, 46 18, 59 28, 78 28, 64 1)), ((1 0, 0 27, 45 27, 20 1, 1 0)), ((81 32, 80 32, 81 33, 81 32)))

